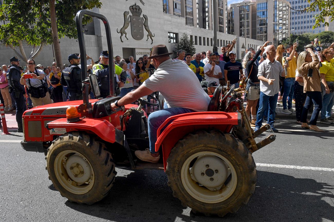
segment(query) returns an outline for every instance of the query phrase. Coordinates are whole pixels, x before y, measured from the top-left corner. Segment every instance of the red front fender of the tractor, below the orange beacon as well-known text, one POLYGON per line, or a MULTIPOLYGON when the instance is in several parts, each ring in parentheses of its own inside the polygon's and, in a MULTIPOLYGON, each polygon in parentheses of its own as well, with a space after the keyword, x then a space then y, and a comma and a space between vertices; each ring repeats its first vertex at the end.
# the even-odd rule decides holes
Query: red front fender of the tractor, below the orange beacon
POLYGON ((60 118, 48 122, 46 127, 50 130, 50 133, 53 132, 52 134, 64 134, 70 131, 90 131, 106 142, 117 142, 123 145, 124 133, 105 119, 84 118, 77 122, 67 122, 66 118, 60 118))

